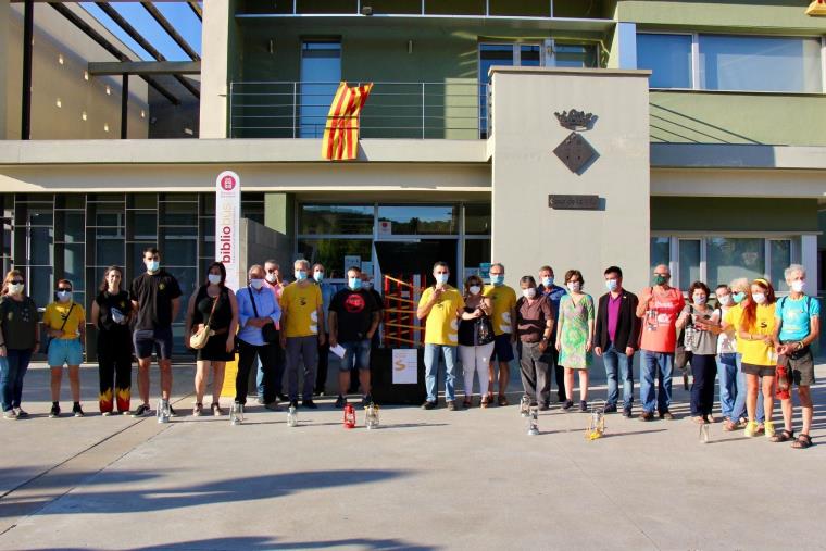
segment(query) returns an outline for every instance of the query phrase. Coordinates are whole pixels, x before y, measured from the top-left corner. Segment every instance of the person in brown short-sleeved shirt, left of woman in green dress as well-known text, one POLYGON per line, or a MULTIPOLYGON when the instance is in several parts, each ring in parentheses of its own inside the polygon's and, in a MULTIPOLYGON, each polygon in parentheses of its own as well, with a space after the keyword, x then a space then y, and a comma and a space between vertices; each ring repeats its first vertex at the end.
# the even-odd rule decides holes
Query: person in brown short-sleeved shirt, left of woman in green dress
POLYGON ((536 280, 520 279, 522 297, 516 301, 516 335, 520 338, 520 376, 529 405, 547 411, 551 401, 551 379, 543 361, 550 346, 556 314, 547 297, 537 292, 536 280))

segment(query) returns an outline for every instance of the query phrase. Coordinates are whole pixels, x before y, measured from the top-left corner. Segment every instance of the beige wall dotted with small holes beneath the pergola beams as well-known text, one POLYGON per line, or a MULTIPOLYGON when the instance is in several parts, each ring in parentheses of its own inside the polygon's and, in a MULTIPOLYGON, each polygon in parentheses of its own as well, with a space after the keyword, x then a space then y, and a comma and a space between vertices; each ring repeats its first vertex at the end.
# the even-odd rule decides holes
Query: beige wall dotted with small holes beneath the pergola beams
MULTIPOLYGON (((7 0, 0 0, 7 1, 7 0)), ((113 35, 73 4, 73 10, 127 55, 113 35)), ((2 8, 0 8, 2 10, 2 8)), ((8 18, 7 139, 20 139, 23 72, 23 4, 12 4, 8 18)), ((0 32, 0 35, 2 32, 0 32)), ((32 139, 113 139, 121 137, 121 77, 84 77, 89 61, 114 58, 46 3, 35 4, 32 74, 32 139), (60 63, 62 58, 63 63, 60 63), (110 93, 107 93, 109 86, 110 93), (58 107, 60 100, 60 107, 58 107), (86 112, 86 121, 83 113, 86 112), (107 130, 105 128, 109 128, 107 130)), ((135 57, 137 59, 137 57, 135 57)), ((1 104, 1 102, 0 102, 1 104)), ((148 135, 147 84, 129 79, 129 138, 148 135), (141 111, 143 116, 141 116, 141 111)))

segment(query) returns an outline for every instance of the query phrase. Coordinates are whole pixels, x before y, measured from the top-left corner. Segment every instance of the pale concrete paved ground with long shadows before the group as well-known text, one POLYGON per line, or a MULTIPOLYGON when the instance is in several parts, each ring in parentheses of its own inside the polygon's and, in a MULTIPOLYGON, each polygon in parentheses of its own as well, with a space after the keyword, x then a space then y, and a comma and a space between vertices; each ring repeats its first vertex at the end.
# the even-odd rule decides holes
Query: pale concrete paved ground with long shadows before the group
MULTIPOLYGON (((185 412, 192 368, 175 371, 185 412)), ((589 442, 587 415, 559 406, 534 437, 516 406, 385 408, 377 430, 343 429, 329 401, 296 428, 259 406, 235 427, 49 419, 47 375, 26 378, 34 418, 0 424, 0 549, 826 549, 826 446, 719 424, 704 444, 685 418, 616 415, 589 442)), ((815 396, 822 443, 826 385, 815 396)))

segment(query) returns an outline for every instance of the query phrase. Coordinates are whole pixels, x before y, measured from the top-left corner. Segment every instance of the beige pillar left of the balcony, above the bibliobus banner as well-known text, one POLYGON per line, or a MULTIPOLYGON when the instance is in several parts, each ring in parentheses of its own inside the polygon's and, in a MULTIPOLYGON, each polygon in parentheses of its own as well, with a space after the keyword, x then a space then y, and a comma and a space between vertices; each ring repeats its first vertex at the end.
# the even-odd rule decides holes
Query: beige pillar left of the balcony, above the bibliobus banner
POLYGON ((200 138, 227 137, 229 0, 203 2, 200 138))

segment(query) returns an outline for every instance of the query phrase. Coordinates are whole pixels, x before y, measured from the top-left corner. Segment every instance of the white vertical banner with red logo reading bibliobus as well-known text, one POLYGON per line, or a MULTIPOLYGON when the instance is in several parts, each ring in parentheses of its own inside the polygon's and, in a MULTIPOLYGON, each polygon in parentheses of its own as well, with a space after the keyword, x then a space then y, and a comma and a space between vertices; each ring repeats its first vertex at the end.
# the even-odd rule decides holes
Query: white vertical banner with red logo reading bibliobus
POLYGON ((240 268, 241 179, 224 171, 215 179, 215 260, 226 268, 226 286, 238 289, 240 268))

